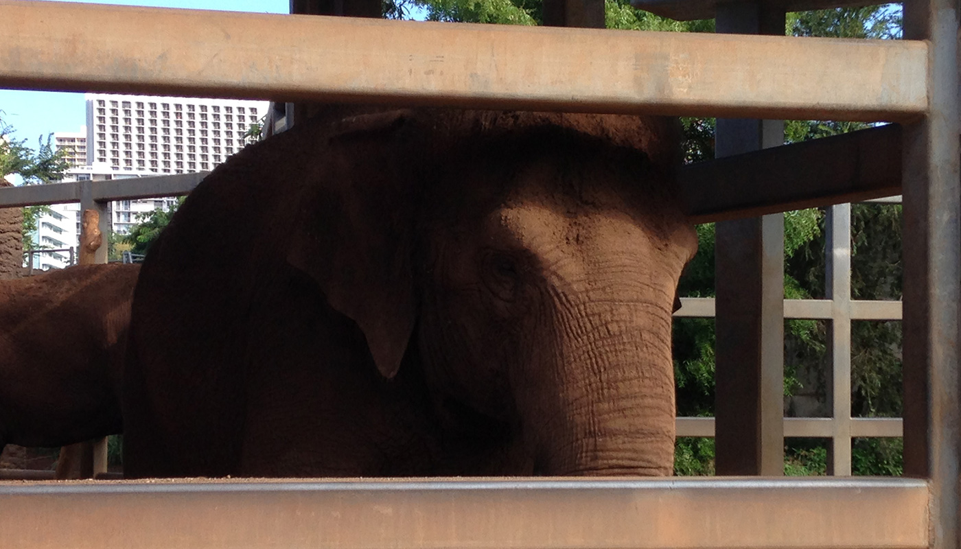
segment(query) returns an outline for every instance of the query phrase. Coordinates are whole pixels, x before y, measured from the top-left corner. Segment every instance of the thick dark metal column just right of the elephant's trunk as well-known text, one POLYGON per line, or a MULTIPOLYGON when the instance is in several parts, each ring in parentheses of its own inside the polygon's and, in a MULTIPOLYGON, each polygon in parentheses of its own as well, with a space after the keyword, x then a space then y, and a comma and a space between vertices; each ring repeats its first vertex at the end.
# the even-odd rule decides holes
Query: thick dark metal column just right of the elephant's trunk
MULTIPOLYGON (((784 11, 719 4, 717 32, 784 34, 784 11)), ((717 157, 780 145, 780 120, 717 121, 717 157)), ((784 216, 719 222, 715 239, 716 469, 780 475, 784 467, 784 216)))

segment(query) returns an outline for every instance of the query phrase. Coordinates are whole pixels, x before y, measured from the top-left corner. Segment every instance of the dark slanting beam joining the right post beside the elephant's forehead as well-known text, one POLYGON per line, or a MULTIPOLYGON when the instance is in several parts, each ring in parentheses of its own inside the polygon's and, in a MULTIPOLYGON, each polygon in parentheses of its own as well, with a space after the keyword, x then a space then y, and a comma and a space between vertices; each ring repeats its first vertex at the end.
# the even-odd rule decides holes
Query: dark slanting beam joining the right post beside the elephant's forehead
POLYGON ((897 124, 684 166, 695 223, 859 202, 900 193, 897 124))

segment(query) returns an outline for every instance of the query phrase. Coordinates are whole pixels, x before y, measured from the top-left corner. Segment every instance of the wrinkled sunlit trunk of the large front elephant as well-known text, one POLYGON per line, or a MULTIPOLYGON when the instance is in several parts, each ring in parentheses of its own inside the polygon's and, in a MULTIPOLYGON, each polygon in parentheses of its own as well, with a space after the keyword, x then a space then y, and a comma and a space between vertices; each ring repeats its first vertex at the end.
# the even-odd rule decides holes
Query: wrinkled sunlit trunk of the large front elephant
POLYGON ((527 415, 539 473, 672 473, 672 296, 652 302, 648 289, 647 301, 618 302, 604 292, 559 308, 554 344, 544 346, 553 352, 543 357, 556 375, 535 389, 527 415))

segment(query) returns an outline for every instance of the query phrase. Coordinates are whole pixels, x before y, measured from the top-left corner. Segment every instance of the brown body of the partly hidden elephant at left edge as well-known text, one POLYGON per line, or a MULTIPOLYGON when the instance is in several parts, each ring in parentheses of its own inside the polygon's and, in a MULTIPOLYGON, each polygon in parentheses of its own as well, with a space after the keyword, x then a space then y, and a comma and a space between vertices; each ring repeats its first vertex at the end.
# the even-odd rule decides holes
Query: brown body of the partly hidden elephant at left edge
POLYGON ((0 283, 0 451, 123 430, 120 390, 139 265, 76 265, 0 283))

